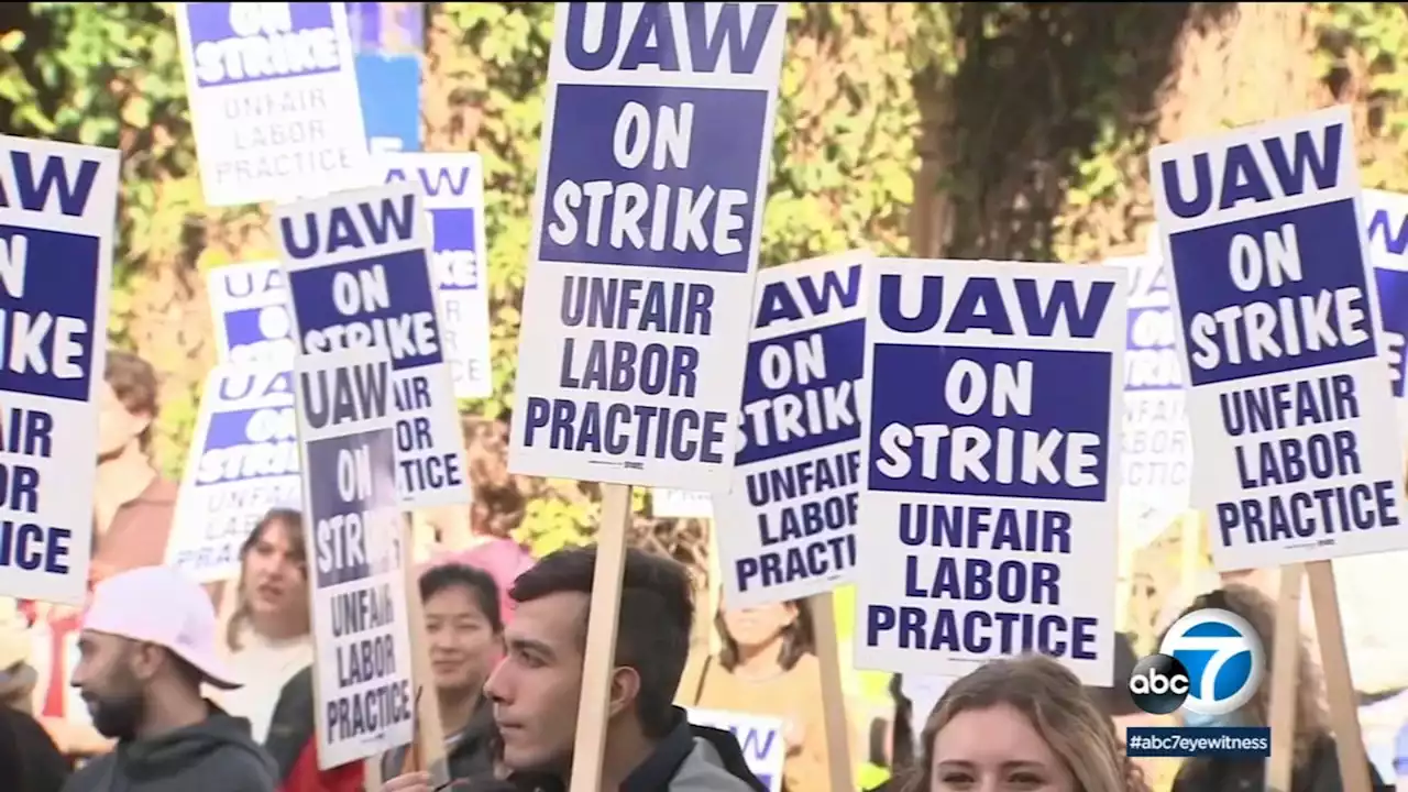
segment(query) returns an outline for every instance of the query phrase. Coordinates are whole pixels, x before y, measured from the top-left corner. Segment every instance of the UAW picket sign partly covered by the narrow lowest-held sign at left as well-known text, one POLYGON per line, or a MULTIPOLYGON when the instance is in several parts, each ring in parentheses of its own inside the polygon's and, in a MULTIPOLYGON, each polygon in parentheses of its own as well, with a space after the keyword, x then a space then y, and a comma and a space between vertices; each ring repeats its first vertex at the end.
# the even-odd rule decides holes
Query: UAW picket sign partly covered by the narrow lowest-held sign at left
POLYGON ((300 355, 391 355, 396 485, 404 509, 467 503, 465 435, 449 382, 420 186, 398 182, 279 206, 273 234, 300 355))

